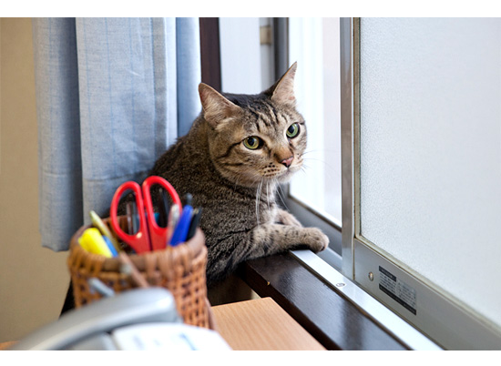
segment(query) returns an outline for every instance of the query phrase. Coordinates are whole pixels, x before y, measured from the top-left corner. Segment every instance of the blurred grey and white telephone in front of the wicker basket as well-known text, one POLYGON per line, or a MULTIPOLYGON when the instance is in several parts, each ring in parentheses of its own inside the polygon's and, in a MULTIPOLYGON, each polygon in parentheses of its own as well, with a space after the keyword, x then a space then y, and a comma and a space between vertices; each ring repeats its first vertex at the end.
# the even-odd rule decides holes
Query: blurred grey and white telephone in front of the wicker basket
POLYGON ((229 350, 219 333, 182 324, 169 290, 128 290, 70 310, 11 350, 229 350))

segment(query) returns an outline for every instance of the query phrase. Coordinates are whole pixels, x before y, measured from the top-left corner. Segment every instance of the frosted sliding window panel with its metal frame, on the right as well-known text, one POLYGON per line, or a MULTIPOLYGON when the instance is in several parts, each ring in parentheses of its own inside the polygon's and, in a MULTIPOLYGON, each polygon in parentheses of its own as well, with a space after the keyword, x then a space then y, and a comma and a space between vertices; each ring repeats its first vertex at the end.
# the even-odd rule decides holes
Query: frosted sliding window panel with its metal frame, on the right
POLYGON ((447 349, 501 344, 500 30, 342 20, 343 272, 447 349))

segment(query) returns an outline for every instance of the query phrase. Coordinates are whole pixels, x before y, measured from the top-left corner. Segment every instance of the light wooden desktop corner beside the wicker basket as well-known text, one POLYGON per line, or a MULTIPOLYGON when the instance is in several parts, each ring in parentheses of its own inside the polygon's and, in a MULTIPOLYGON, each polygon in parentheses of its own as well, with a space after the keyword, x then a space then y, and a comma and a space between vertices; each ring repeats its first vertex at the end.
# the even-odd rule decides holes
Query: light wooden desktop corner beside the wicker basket
POLYGON ((235 351, 325 350, 271 298, 212 308, 220 335, 235 351))

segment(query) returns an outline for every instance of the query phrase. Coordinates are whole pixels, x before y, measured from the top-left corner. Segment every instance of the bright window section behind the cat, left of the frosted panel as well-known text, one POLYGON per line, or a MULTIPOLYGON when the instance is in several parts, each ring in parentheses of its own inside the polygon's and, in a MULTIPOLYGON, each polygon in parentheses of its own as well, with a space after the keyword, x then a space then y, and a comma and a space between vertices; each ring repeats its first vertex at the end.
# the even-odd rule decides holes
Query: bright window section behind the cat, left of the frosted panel
POLYGON ((220 18, 223 91, 259 93, 298 62, 295 93, 309 148, 304 170, 281 197, 304 225, 329 236, 321 256, 336 268, 342 265, 339 42, 339 18, 220 18))

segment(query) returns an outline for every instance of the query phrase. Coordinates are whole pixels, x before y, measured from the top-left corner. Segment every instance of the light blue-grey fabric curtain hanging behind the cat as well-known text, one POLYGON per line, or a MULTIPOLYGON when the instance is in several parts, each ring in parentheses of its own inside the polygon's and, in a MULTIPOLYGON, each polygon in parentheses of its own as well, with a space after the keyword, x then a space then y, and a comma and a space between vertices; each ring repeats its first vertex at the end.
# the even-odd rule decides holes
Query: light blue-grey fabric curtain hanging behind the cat
POLYGON ((39 18, 33 38, 42 245, 66 250, 199 114, 199 19, 39 18))

